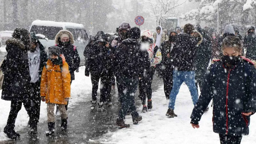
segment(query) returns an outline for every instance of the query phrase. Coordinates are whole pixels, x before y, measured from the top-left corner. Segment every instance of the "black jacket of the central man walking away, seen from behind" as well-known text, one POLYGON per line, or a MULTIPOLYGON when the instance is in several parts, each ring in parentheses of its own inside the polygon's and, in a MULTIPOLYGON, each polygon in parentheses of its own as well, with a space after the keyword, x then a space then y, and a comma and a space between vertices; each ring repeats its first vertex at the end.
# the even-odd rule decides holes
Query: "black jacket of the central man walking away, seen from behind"
POLYGON ((140 43, 135 39, 124 40, 117 48, 113 57, 115 76, 138 78, 144 76, 150 67, 147 50, 142 51, 140 43))

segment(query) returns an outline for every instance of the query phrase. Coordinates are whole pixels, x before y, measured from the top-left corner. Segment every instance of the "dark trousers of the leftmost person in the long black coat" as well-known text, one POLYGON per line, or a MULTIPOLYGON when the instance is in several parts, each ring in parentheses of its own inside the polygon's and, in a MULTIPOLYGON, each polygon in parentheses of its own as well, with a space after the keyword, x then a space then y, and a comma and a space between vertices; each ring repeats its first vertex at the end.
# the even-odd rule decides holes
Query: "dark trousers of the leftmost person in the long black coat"
POLYGON ((22 102, 24 105, 24 108, 26 109, 26 111, 28 112, 28 115, 30 116, 30 104, 28 102, 28 100, 12 100, 11 101, 11 110, 7 119, 7 125, 6 127, 9 128, 14 128, 15 127, 15 121, 18 115, 18 112, 21 109, 22 106, 22 102))

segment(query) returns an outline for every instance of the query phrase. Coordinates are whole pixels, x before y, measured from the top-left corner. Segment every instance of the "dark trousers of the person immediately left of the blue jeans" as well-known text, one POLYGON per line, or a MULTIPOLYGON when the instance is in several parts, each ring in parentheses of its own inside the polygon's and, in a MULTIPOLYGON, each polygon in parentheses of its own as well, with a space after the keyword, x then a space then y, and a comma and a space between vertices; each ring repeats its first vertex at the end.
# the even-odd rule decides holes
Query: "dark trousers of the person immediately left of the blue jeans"
POLYGON ((173 86, 173 69, 168 68, 165 69, 163 72, 163 81, 164 81, 164 94, 166 99, 170 99, 170 93, 172 91, 172 86, 173 86))

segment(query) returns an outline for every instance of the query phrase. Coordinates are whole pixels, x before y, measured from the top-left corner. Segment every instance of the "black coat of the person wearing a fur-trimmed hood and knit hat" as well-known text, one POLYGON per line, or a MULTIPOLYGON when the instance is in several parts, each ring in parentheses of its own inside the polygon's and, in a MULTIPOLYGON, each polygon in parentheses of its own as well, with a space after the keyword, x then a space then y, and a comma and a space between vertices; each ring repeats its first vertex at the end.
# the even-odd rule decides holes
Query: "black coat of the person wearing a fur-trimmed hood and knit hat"
POLYGON ((61 48, 61 54, 64 55, 66 62, 68 63, 71 80, 75 80, 75 71, 80 66, 80 57, 76 46, 73 44, 63 45, 62 43, 59 43, 57 46, 61 48))

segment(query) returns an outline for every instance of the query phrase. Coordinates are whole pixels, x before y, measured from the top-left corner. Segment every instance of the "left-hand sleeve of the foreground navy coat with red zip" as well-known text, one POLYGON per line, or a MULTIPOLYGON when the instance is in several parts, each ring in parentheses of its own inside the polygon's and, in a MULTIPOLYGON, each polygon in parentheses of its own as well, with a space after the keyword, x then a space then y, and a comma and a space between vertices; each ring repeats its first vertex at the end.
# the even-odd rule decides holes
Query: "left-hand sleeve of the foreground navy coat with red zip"
POLYGON ((213 76, 212 66, 210 66, 210 70, 207 70, 205 75, 205 82, 202 88, 201 95, 190 116, 191 124, 198 124, 202 115, 204 114, 204 110, 207 108, 207 106, 212 100, 212 95, 213 95, 212 76, 213 76))

